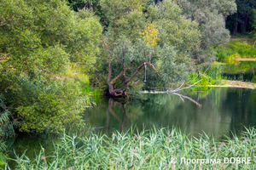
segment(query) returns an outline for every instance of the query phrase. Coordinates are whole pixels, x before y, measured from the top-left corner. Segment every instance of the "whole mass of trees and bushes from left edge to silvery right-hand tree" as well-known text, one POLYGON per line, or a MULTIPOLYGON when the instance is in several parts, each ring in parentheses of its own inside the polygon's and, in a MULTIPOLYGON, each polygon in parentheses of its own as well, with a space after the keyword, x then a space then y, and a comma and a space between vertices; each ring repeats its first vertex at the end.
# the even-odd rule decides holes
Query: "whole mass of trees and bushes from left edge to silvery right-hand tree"
POLYGON ((235 11, 234 0, 1 0, 1 117, 59 132, 83 124, 90 82, 113 96, 169 87, 213 59, 235 11))

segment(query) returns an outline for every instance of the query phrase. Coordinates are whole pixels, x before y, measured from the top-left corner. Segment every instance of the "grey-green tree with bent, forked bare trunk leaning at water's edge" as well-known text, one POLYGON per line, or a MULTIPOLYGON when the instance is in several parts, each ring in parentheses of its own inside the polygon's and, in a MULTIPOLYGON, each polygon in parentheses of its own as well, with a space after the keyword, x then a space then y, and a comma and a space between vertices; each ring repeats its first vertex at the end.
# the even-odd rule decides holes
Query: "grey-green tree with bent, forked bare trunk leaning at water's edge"
POLYGON ((102 37, 94 82, 107 79, 111 96, 126 95, 127 88, 138 81, 152 88, 183 80, 193 65, 193 54, 199 51, 197 24, 185 19, 175 3, 148 4, 146 0, 101 1, 109 26, 102 37), (143 38, 150 23, 159 32, 154 46, 143 38))

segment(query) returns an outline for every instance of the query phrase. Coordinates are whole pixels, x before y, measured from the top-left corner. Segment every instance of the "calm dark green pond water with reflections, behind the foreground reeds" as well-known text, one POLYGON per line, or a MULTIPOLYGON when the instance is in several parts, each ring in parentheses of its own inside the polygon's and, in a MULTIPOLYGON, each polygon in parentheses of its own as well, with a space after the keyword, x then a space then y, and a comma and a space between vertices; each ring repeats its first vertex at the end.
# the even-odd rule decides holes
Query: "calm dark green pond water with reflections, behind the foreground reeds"
POLYGON ((103 99, 88 112, 93 127, 126 131, 131 126, 139 131, 151 127, 180 127, 198 136, 205 132, 222 139, 224 135, 256 125, 255 91, 243 88, 212 88, 183 92, 198 101, 199 107, 173 94, 145 94, 145 101, 103 99), (202 92, 204 91, 204 92, 202 92))

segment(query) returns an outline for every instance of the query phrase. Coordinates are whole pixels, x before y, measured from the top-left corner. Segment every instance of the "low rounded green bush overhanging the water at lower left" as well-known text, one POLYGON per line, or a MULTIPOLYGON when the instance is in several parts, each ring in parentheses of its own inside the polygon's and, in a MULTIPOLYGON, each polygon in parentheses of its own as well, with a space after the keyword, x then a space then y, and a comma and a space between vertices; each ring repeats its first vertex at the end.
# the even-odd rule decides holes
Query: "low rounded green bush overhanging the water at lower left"
POLYGON ((59 133, 65 127, 84 125, 79 113, 90 105, 90 96, 82 94, 79 82, 65 77, 52 81, 43 78, 16 79, 9 91, 20 131, 59 133), (15 89, 15 90, 13 90, 15 89))

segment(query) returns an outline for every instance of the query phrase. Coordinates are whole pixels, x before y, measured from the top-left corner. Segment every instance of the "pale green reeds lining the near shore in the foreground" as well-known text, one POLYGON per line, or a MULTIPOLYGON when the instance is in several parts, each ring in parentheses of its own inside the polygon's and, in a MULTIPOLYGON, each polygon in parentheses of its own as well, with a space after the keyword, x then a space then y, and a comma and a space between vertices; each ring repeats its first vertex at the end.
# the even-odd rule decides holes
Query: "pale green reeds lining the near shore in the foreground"
POLYGON ((91 133, 77 139, 64 134, 50 156, 45 156, 42 148, 36 158, 25 153, 12 161, 17 163, 15 169, 252 169, 256 166, 255 148, 255 128, 247 129, 241 138, 234 135, 221 142, 206 134, 191 138, 177 129, 139 134, 130 130, 113 133, 112 138, 91 133), (251 161, 224 162, 233 162, 232 157, 251 161))

